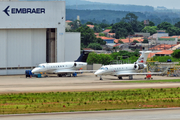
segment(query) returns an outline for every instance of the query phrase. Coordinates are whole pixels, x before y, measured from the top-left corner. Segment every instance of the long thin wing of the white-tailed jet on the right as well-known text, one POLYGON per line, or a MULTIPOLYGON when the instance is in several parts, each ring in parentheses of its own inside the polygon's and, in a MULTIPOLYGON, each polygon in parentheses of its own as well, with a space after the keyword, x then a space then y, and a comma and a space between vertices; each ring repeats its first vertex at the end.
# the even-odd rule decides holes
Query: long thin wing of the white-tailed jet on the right
POLYGON ((123 76, 123 75, 160 75, 163 72, 151 72, 151 73, 121 73, 121 72, 117 72, 116 75, 117 76, 123 76))

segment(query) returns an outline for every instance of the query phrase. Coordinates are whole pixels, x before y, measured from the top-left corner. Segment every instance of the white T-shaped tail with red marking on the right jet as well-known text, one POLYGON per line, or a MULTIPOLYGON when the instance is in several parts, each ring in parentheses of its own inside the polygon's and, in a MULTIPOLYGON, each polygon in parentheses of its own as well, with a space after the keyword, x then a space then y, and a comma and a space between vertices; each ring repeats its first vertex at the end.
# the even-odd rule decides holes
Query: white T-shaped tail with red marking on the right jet
POLYGON ((141 56, 139 57, 139 59, 136 61, 137 64, 146 64, 147 58, 149 53, 151 53, 152 51, 140 51, 141 52, 141 56))

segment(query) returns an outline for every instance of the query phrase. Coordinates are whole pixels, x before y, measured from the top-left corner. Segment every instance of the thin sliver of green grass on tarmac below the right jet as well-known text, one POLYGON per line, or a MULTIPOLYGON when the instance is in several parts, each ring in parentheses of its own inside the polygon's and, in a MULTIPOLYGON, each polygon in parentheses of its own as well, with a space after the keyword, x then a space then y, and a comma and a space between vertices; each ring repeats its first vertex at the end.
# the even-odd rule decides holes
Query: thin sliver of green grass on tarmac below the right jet
POLYGON ((175 80, 132 80, 132 81, 114 81, 114 83, 174 83, 180 82, 180 79, 175 80))

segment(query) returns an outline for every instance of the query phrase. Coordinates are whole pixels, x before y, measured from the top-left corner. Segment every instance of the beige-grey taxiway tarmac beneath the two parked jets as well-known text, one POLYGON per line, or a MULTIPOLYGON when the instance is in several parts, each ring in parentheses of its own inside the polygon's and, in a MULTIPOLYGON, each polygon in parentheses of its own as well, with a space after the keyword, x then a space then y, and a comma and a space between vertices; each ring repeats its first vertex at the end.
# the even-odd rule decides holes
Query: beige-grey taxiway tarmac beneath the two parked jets
MULTIPOLYGON (((144 76, 134 76, 134 80, 143 80, 144 76)), ((153 76, 154 80, 180 79, 180 77, 153 76)), ((128 80, 128 77, 123 78, 128 80)), ((119 81, 114 76, 104 76, 103 81, 93 73, 78 74, 78 77, 57 77, 49 75, 46 78, 25 78, 24 75, 0 76, 0 93, 21 92, 52 92, 52 91, 95 91, 136 88, 174 88, 180 83, 115 83, 119 81)), ((122 80, 121 80, 122 81, 122 80)))

